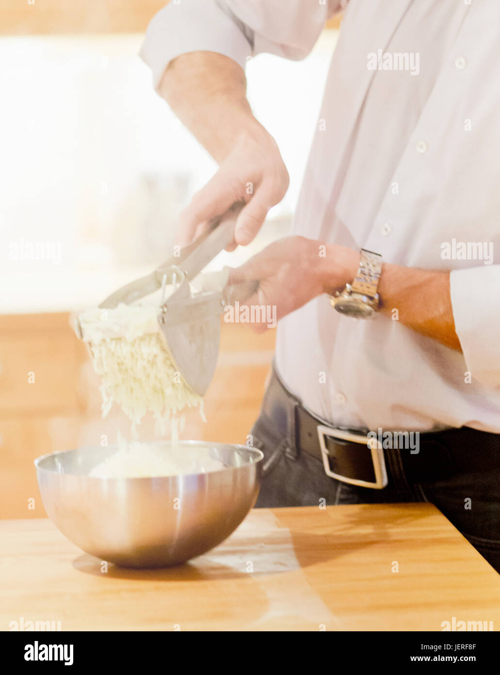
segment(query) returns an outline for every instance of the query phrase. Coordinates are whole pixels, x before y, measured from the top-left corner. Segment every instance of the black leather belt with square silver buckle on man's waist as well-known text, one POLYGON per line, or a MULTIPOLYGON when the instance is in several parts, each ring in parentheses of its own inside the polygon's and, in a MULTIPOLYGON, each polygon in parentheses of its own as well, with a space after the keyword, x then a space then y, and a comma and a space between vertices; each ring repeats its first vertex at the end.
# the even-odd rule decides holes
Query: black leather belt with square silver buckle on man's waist
MULTIPOLYGON (((500 470, 500 435, 470 427, 418 435, 413 448, 387 448, 377 430, 368 442, 368 429, 336 429, 306 410, 280 381, 276 369, 265 391, 261 415, 290 453, 306 452, 323 462, 327 475, 344 483, 381 489, 387 484, 387 453, 398 452, 408 481, 445 479, 457 473, 500 470), (374 434, 375 435, 375 434, 374 434)), ((390 438, 402 438, 392 433, 390 438)), ((415 438, 415 437, 414 437, 415 438)), ((394 443, 392 443, 394 445, 394 443)))

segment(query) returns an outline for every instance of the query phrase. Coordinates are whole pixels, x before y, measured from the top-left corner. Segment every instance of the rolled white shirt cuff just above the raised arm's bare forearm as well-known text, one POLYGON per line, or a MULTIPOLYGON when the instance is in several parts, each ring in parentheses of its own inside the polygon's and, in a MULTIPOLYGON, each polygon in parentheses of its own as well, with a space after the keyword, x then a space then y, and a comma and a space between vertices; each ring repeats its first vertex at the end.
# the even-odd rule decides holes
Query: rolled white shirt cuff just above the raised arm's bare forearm
POLYGON ((214 51, 245 69, 252 49, 235 21, 213 0, 170 2, 154 16, 139 56, 153 74, 158 90, 165 69, 175 57, 192 51, 214 51))

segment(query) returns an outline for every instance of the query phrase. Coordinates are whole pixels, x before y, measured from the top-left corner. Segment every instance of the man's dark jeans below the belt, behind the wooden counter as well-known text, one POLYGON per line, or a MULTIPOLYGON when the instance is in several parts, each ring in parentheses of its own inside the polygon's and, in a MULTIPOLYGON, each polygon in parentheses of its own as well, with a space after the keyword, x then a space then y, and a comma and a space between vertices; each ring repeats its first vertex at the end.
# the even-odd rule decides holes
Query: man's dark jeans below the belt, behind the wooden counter
MULTIPOLYGON (((467 427, 452 430, 451 443, 447 441, 449 454, 459 455, 459 450, 463 454, 467 443, 467 452, 474 453, 474 470, 458 470, 439 480, 425 475, 419 475, 418 482, 410 479, 401 457, 408 451, 384 450, 387 486, 358 487, 330 478, 319 458, 294 447, 293 425, 290 429, 290 419, 274 401, 281 396, 280 387, 273 373, 259 418, 251 429, 253 445, 264 454, 256 508, 317 506, 321 498, 326 504, 430 502, 500 572, 500 435, 483 435, 467 427), (480 442, 485 438, 488 446, 480 442), (474 439, 479 441, 474 443, 474 439)), ((443 433, 443 437, 449 439, 450 435, 443 433)))

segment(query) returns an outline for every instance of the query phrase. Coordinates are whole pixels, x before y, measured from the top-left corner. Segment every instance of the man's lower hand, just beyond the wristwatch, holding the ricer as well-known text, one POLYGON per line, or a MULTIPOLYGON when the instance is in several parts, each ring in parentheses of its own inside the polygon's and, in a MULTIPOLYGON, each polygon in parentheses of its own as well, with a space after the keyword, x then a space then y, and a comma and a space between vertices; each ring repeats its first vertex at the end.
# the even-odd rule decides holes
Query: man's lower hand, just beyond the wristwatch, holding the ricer
MULTIPOLYGON (((276 319, 285 317, 316 296, 344 288, 356 273, 359 254, 350 248, 329 245, 335 259, 327 261, 325 246, 305 237, 287 237, 270 244, 241 267, 232 269, 229 284, 259 281, 257 292, 245 300, 246 306, 276 306, 276 319)), ((261 333, 267 323, 249 323, 261 333)))

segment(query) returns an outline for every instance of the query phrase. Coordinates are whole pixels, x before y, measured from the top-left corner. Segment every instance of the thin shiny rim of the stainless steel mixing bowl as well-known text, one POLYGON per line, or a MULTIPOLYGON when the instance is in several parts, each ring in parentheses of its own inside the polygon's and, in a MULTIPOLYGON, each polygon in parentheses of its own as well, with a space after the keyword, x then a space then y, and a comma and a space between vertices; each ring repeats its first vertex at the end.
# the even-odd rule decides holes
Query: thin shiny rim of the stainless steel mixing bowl
MULTIPOLYGON (((172 441, 167 440, 167 439, 159 439, 158 441, 148 441, 150 443, 171 443, 172 441)), ((210 446, 213 448, 230 448, 231 450, 247 450, 250 451, 251 453, 255 453, 255 460, 253 462, 249 462, 248 464, 244 464, 243 466, 251 466, 252 464, 259 464, 264 458, 263 452, 259 450, 259 448, 254 448, 252 445, 242 445, 241 443, 216 443, 212 441, 194 441, 194 440, 179 440, 179 445, 204 445, 204 446, 210 446)), ((117 448, 118 449, 118 444, 113 443, 112 445, 106 446, 106 448, 117 448)), ((172 476, 134 476, 134 477, 129 477, 129 476, 123 476, 123 477, 118 477, 118 476, 111 476, 111 477, 106 477, 106 476, 91 476, 90 474, 79 474, 79 473, 71 473, 71 472, 64 472, 61 474, 58 471, 55 471, 50 468, 46 468, 44 466, 40 466, 41 462, 45 460, 46 458, 56 456, 56 455, 62 455, 65 454, 66 452, 75 452, 76 450, 94 450, 96 448, 100 448, 100 445, 85 445, 79 448, 69 448, 68 450, 54 450, 53 452, 46 452, 43 455, 40 455, 40 457, 37 457, 34 461, 33 464, 36 467, 37 471, 45 471, 51 475, 65 475, 65 476, 75 476, 75 477, 82 477, 85 479, 91 479, 91 480, 96 480, 96 481, 152 481, 152 480, 168 480, 168 479, 179 479, 179 478, 188 478, 188 477, 193 477, 193 476, 206 476, 209 474, 218 474, 222 473, 223 471, 228 471, 232 469, 239 469, 243 468, 242 466, 223 466, 220 469, 216 469, 214 471, 208 471, 208 472, 198 472, 198 473, 183 473, 183 474, 175 474, 172 476)))

